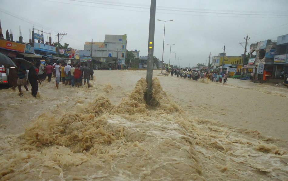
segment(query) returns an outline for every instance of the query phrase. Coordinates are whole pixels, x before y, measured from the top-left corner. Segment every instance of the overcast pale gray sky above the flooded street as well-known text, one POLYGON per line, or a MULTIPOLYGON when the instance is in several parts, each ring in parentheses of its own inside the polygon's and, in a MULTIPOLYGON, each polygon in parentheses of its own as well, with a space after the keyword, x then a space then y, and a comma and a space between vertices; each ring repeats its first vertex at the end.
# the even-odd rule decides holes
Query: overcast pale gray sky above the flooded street
MULTIPOLYGON (((156 20, 174 20, 166 23, 164 62, 169 62, 167 43, 175 44, 171 64, 172 52, 179 52, 182 65, 193 66, 205 63, 209 52, 223 52, 224 44, 227 56, 240 56, 244 49, 239 42, 247 33, 248 43, 276 40, 288 34, 287 7, 286 0, 157 0, 156 20)), ((1 0, 0 18, 3 31, 11 29, 16 40, 19 25, 25 42, 34 25, 51 32, 53 42, 57 32, 67 33, 61 43, 74 49, 84 49, 91 38, 103 41, 105 34, 127 34, 127 49, 147 56, 149 11, 149 0, 1 0)), ((154 56, 159 59, 163 30, 164 22, 156 21, 154 56)))

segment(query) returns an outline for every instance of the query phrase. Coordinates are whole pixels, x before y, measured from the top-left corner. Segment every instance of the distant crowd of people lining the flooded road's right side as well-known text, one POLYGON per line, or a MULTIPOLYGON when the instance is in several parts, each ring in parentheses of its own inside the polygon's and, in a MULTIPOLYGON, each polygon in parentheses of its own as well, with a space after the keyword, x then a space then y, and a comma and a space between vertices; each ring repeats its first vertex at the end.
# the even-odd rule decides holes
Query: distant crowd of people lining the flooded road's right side
POLYGON ((227 74, 226 73, 219 73, 219 72, 212 72, 212 71, 199 71, 199 70, 192 70, 186 68, 167 68, 166 72, 171 74, 171 76, 187 78, 198 80, 199 78, 206 78, 212 82, 220 82, 223 84, 227 84, 227 74))

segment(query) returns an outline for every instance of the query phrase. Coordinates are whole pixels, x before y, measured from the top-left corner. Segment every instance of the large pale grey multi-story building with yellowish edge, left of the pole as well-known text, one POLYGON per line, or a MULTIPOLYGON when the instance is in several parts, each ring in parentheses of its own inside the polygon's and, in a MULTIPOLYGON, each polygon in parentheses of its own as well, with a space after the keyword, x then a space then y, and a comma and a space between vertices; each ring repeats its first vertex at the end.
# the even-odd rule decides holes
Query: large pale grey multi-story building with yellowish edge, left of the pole
POLYGON ((125 64, 127 35, 105 35, 103 42, 85 42, 84 50, 91 51, 93 57, 117 57, 125 64))

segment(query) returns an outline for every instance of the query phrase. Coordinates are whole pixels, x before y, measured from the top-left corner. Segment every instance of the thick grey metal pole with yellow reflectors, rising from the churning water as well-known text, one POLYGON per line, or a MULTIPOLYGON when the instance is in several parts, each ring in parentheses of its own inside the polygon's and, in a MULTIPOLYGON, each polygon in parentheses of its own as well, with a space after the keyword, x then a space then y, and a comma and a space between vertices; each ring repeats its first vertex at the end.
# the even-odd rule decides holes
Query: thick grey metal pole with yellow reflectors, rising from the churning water
POLYGON ((149 20, 149 37, 148 37, 147 75, 146 75, 146 81, 147 81, 146 103, 150 103, 150 100, 152 99, 155 13, 156 13, 156 0, 151 0, 150 20, 149 20))

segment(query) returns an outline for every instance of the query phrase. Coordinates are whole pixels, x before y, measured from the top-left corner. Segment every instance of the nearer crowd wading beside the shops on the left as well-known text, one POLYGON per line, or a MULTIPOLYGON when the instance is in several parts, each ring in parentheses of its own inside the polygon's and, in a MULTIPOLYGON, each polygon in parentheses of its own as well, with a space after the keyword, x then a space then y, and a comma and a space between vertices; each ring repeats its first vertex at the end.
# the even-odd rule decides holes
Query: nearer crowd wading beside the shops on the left
POLYGON ((67 63, 60 63, 56 61, 53 65, 47 63, 46 65, 41 62, 35 62, 30 68, 23 65, 21 60, 16 61, 17 68, 10 70, 9 83, 12 89, 18 86, 19 95, 22 93, 22 86, 26 91, 28 90, 28 82, 31 85, 32 96, 36 97, 38 92, 38 83, 41 84, 48 77, 48 82, 51 82, 52 76, 55 77, 55 86, 58 89, 60 81, 64 85, 70 85, 72 87, 80 87, 87 82, 88 87, 91 87, 90 77, 93 80, 94 70, 92 65, 88 66, 88 63, 75 63, 71 60, 67 63))

